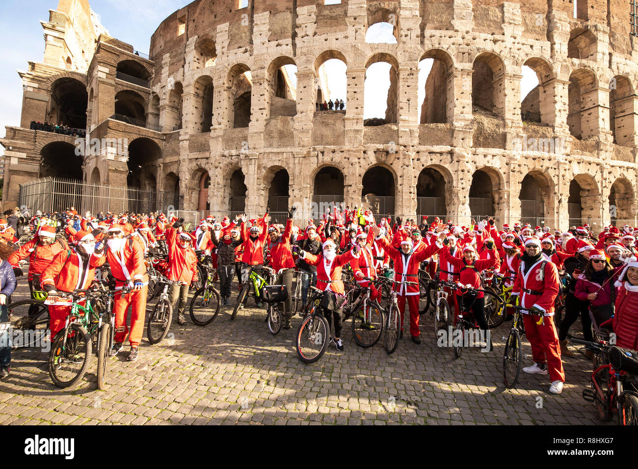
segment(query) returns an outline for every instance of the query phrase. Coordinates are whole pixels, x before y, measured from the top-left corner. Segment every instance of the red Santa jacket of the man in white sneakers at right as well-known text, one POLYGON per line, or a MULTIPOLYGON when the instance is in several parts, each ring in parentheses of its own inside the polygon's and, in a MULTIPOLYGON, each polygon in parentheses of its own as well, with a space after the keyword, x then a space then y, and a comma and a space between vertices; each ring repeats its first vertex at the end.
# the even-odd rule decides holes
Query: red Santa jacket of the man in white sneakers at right
POLYGON ((554 315, 554 300, 558 295, 558 269, 553 262, 547 262, 544 257, 535 262, 527 273, 524 273, 525 262, 521 259, 518 274, 514 279, 512 295, 521 296, 519 304, 523 308, 536 306, 545 311, 545 316, 554 315), (545 261, 544 271, 540 266, 545 261))

